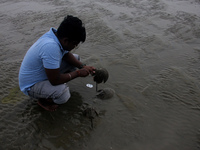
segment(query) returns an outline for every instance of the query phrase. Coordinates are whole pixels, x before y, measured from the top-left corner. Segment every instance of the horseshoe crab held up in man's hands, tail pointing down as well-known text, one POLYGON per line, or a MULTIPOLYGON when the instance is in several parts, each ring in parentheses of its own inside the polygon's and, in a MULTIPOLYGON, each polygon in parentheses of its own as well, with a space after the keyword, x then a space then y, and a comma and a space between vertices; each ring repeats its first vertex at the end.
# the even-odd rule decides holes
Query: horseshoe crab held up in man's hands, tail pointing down
POLYGON ((98 91, 97 85, 108 80, 109 74, 105 68, 99 68, 95 70, 94 81, 96 82, 96 91, 98 91))

